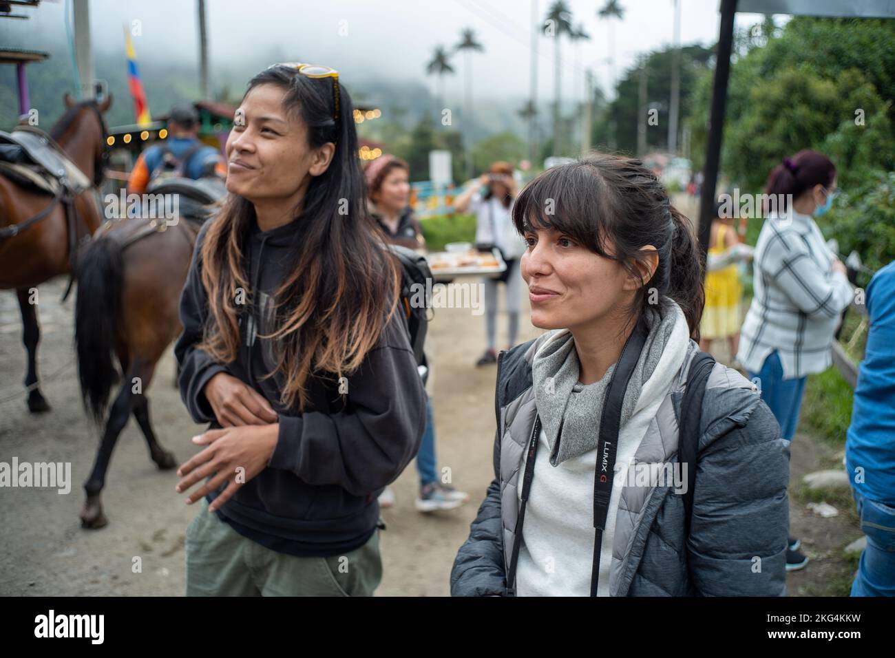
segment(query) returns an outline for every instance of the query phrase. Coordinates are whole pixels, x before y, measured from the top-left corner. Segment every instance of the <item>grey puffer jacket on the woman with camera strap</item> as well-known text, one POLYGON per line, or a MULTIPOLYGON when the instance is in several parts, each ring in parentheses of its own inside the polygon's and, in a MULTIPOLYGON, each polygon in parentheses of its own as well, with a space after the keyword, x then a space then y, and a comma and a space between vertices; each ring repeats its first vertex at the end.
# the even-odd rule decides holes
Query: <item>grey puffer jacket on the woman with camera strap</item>
MULTIPOLYGON (((537 414, 532 363, 545 334, 498 361, 494 480, 451 570, 451 594, 507 594, 516 541, 517 482, 537 414)), ((678 460, 678 419, 698 346, 662 399, 635 462, 678 460)), ((674 486, 625 486, 618 496, 608 590, 611 596, 786 594, 788 441, 754 385, 716 363, 706 384, 689 536, 674 486), (686 552, 685 552, 686 551, 686 552)))

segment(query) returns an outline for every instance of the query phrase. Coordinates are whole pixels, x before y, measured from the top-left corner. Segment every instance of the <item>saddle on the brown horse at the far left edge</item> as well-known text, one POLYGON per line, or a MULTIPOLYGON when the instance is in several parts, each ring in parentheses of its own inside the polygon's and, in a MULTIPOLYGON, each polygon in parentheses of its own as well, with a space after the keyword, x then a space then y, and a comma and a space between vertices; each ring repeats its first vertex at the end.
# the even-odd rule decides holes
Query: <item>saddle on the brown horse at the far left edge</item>
POLYGON ((28 124, 0 131, 0 173, 53 196, 67 192, 75 197, 91 186, 52 137, 28 124))

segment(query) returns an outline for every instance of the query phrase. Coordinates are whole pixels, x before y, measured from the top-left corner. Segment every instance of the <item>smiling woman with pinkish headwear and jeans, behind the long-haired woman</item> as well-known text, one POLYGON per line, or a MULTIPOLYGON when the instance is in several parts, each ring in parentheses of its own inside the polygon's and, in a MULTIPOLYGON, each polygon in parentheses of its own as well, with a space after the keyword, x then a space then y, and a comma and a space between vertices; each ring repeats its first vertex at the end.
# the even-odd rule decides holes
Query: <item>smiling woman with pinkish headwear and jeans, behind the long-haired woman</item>
MULTIPOLYGON (((363 172, 367 184, 367 198, 371 215, 385 233, 386 240, 409 249, 422 250, 426 241, 422 228, 410 207, 410 166, 400 158, 383 155, 367 165, 363 172)), ((428 361, 428 358, 427 358, 428 361)), ((432 372, 429 381, 431 386, 432 372)), ((442 483, 436 471, 435 419, 432 400, 426 397, 426 432, 416 456, 416 470, 420 474, 420 492, 415 501, 421 512, 456 509, 469 502, 465 491, 456 491, 442 483)), ((395 504, 395 492, 386 487, 379 495, 379 507, 390 508, 395 504)))

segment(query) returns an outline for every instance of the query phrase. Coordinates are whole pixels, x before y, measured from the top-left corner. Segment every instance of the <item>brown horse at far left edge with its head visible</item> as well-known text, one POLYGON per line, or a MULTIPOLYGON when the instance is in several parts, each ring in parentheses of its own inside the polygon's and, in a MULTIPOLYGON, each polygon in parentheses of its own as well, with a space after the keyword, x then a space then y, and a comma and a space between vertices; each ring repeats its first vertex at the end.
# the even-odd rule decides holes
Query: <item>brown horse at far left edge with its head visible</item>
MULTIPOLYGON (((102 103, 93 100, 75 102, 65 95, 64 115, 50 129, 50 136, 72 162, 97 186, 102 183, 107 155, 107 128, 103 113, 112 104, 109 97, 102 103)), ((76 242, 90 239, 102 221, 100 209, 88 189, 73 201, 77 227, 76 242)), ((31 192, 0 175, 0 227, 22 224, 35 217, 51 203, 46 194, 31 192)), ((28 351, 28 408, 32 413, 49 409, 38 388, 38 325, 37 304, 30 297, 32 289, 49 278, 72 273, 69 254, 69 229, 62 204, 47 217, 12 237, 0 238, 0 289, 14 289, 19 297, 24 325, 22 342, 28 351)))

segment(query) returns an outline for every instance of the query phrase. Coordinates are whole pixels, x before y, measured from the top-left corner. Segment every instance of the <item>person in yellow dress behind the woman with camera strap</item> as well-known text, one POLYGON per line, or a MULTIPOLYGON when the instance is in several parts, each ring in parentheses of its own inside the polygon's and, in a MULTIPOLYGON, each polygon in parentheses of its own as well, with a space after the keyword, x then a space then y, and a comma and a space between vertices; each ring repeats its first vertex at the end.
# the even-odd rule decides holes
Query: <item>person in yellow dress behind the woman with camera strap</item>
MULTIPOLYGON (((739 244, 734 229, 734 218, 723 216, 720 204, 715 204, 715 218, 712 219, 709 238, 709 257, 721 254, 739 244)), ((737 355, 739 347, 740 313, 739 303, 743 296, 743 286, 739 281, 737 263, 705 273, 705 308, 700 323, 699 348, 708 352, 712 340, 726 339, 730 346, 730 358, 737 355)), ((734 364, 736 367, 737 364, 734 364)))

